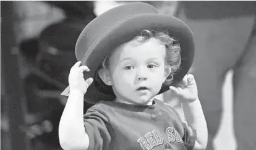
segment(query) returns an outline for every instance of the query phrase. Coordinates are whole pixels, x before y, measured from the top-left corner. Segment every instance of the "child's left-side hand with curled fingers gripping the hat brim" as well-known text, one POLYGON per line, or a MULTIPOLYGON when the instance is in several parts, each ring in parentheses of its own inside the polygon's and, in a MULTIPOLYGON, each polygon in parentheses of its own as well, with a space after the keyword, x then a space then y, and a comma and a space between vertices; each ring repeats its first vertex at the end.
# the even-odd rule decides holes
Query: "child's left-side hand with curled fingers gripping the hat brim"
POLYGON ((83 71, 90 71, 87 66, 80 66, 81 61, 75 63, 74 66, 70 69, 69 73, 69 88, 70 92, 78 91, 83 95, 87 92, 88 87, 92 84, 92 77, 85 80, 83 78, 83 71))

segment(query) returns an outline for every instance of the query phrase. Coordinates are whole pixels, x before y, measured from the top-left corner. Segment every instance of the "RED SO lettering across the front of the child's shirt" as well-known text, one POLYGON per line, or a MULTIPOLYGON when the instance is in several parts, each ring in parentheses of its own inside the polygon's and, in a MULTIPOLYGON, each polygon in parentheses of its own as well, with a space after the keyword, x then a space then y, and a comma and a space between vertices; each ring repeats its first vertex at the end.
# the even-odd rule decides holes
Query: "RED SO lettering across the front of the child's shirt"
MULTIPOLYGON (((181 135, 173 128, 173 127, 168 127, 165 130, 166 134, 168 135, 168 142, 173 143, 184 143, 181 135)), ((140 143, 140 146, 142 147, 143 150, 151 150, 155 146, 158 146, 160 144, 164 143, 163 136, 161 136, 160 132, 158 130, 152 130, 151 132, 148 132, 145 134, 144 137, 140 137, 137 142, 140 143)))

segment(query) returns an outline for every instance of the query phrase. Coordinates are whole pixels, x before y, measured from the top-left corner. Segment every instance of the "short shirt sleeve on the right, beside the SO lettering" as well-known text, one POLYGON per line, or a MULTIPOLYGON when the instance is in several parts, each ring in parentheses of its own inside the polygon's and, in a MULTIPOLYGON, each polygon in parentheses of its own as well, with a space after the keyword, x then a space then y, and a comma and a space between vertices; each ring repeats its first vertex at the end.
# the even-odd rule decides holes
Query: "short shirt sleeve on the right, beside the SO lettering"
POLYGON ((184 145, 187 150, 192 150, 195 146, 195 140, 197 139, 197 133, 194 128, 189 127, 189 125, 182 123, 184 127, 184 136, 182 140, 184 141, 184 145))

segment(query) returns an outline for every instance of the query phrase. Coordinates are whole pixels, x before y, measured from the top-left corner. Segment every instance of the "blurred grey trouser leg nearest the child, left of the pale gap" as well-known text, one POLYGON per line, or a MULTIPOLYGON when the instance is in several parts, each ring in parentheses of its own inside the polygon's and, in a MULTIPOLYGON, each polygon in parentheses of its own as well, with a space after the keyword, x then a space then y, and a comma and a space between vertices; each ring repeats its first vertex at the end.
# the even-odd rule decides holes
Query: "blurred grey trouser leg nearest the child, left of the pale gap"
POLYGON ((208 146, 213 149, 222 114, 221 89, 224 75, 239 58, 247 42, 252 21, 246 17, 191 20, 184 13, 179 18, 189 25, 195 37, 195 60, 191 73, 208 125, 208 146))

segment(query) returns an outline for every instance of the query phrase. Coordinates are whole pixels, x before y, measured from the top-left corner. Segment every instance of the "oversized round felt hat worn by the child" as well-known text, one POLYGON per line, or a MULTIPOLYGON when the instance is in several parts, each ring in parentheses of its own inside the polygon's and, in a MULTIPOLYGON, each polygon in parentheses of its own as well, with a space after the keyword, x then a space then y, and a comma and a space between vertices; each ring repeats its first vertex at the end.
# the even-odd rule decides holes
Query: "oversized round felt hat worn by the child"
MULTIPOLYGON (((166 31, 181 45, 181 67, 174 74, 172 85, 177 84, 187 74, 194 60, 194 37, 189 26, 171 15, 159 14, 155 7, 143 2, 132 2, 114 7, 96 17, 83 29, 75 45, 77 60, 90 68, 84 77, 94 81, 85 93, 85 101, 114 100, 112 87, 98 77, 97 69, 112 50, 124 44, 142 30, 166 31)), ((158 94, 169 90, 162 85, 158 94)))

